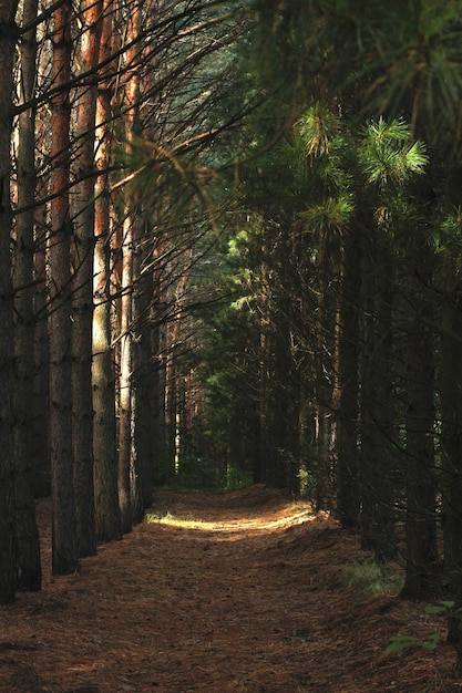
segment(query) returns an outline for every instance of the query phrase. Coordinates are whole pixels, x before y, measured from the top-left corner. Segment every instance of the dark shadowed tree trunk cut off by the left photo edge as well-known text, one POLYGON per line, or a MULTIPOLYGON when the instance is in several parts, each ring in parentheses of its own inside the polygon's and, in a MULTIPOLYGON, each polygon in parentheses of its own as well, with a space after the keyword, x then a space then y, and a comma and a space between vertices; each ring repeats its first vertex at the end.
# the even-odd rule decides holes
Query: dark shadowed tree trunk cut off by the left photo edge
POLYGON ((12 126, 12 76, 17 37, 17 2, 0 4, 0 603, 14 600, 13 552, 13 307, 10 234, 10 145, 12 126))

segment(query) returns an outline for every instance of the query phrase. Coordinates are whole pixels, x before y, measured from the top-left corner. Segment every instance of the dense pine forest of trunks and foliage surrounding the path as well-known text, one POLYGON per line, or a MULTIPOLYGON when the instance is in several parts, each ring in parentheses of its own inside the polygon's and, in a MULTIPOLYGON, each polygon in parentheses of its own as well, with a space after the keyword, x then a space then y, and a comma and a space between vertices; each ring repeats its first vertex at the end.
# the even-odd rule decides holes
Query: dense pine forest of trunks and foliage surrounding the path
POLYGON ((462 2, 0 6, 0 602, 155 485, 312 500, 462 607, 462 2))

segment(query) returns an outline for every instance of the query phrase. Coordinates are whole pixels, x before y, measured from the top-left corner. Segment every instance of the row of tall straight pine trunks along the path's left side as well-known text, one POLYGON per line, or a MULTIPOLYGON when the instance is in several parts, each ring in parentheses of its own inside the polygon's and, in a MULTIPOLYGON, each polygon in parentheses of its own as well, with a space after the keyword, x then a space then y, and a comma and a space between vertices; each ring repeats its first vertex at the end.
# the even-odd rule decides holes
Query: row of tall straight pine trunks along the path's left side
MULTIPOLYGON (((218 6, 211 4, 214 10, 218 6)), ((129 8, 114 0, 84 0, 79 6, 64 1, 43 9, 35 0, 24 0, 20 7, 24 29, 18 44, 21 60, 13 64, 17 10, 17 6, 8 1, 0 8, 0 220, 4 281, 0 297, 4 314, 0 369, 4 372, 2 394, 3 390, 8 393, 1 404, 4 407, 1 421, 4 464, 0 469, 0 511, 4 527, 0 529, 4 551, 0 560, 6 585, 12 591, 18 587, 40 588, 34 492, 51 489, 52 493, 52 570, 55 575, 78 570, 79 559, 94 555, 99 541, 117 539, 123 531, 129 531, 133 520, 142 517, 150 499, 154 456, 161 455, 160 428, 165 410, 165 376, 162 368, 152 366, 160 363, 161 349, 166 346, 166 352, 170 344, 161 343, 161 332, 167 333, 167 329, 161 327, 166 319, 163 309, 158 311, 161 322, 150 323, 156 313, 152 302, 157 277, 153 265, 146 271, 151 261, 145 260, 153 251, 155 234, 148 220, 138 218, 143 203, 132 204, 130 195, 124 195, 124 182, 117 182, 125 175, 121 165, 122 149, 124 144, 131 149, 132 138, 134 142, 147 128, 155 131, 152 104, 157 100, 164 113, 165 131, 176 142, 172 161, 167 161, 168 156, 164 156, 160 147, 162 154, 156 166, 165 164, 173 180, 172 188, 181 180, 187 190, 185 197, 189 199, 196 180, 186 180, 189 164, 183 170, 182 164, 177 165, 179 157, 175 157, 183 147, 187 151, 186 162, 202 127, 197 124, 197 106, 191 105, 188 99, 189 89, 197 102, 203 99, 197 87, 201 77, 197 80, 193 72, 208 50, 213 52, 217 45, 224 45, 216 39, 216 28, 223 18, 212 17, 208 22, 208 6, 198 0, 179 9, 174 2, 134 2, 129 8), (157 11, 162 13, 160 20, 157 11), (179 23, 175 21, 177 13, 179 23), (155 40, 151 41, 152 37, 161 37, 161 49, 155 40), (160 79, 156 52, 161 50, 164 54, 175 42, 178 50, 173 53, 172 65, 161 65, 160 79), (198 44, 201 48, 196 50, 198 44), (140 87, 142 77, 145 77, 143 89, 140 87), (178 93, 171 86, 171 80, 179 84, 178 93), (19 96, 16 104, 18 128, 12 143, 12 151, 18 155, 16 167, 11 167, 9 158, 13 86, 19 96), (165 93, 172 102, 167 105, 164 104, 165 93), (187 112, 185 137, 188 139, 187 145, 181 143, 177 147, 183 133, 177 130, 178 122, 173 123, 176 115, 172 114, 183 116, 183 112, 187 112), (117 126, 114 126, 115 121, 117 126), (121 136, 125 137, 123 144, 121 136), (10 242, 11 190, 18 205, 13 247, 10 242), (120 232, 123 270, 122 298, 117 303, 111 254, 120 232), (14 267, 11 258, 14 258, 14 267), (11 283, 8 283, 12 269, 14 306, 11 283), (144 272, 143 279, 137 281, 140 277, 136 277, 135 281, 134 272, 144 272), (10 330, 13 313, 14 335, 10 330), (138 340, 143 342, 142 349, 137 349, 138 340), (14 353, 11 352, 13 344, 14 353), (116 404, 120 405, 117 411, 116 404), (11 425, 14 453, 12 441, 8 438, 11 425), (16 528, 14 545, 10 521, 16 528), (7 554, 12 546, 16 555, 10 565, 7 554)), ((226 37, 229 35, 229 19, 230 15, 226 15, 226 37)), ((198 121, 203 122, 202 116, 198 121)), ((133 149, 136 151, 136 146, 133 149)), ((191 170, 195 178, 194 166, 191 170)), ((194 205, 199 197, 197 195, 194 205)), ((165 199, 168 214, 176 210, 177 200, 171 189, 165 199)), ((194 205, 187 210, 191 218, 196 214, 194 205)), ((158 199, 152 204, 156 206, 161 206, 158 199)), ((168 220, 168 229, 175 229, 172 235, 168 230, 163 241, 166 256, 171 252, 170 246, 175 247, 173 279, 168 276, 165 280, 162 276, 162 280, 168 285, 168 298, 179 283, 176 298, 183 307, 182 291, 189 276, 187 270, 182 280, 178 276, 193 261, 196 236, 192 232, 193 240, 191 244, 187 240, 189 245, 186 245, 182 234, 177 234, 175 225, 185 205, 182 203, 179 207, 178 217, 168 220)), ((162 216, 162 211, 160 214, 162 216)), ((160 293, 157 291, 155 298, 160 293)), ((176 309, 175 304, 173 313, 176 309)), ((181 312, 183 318, 183 308, 181 312)), ((175 318, 173 321, 176 327, 175 318)), ((168 333, 165 339, 170 337, 168 333)), ((176 406, 172 420, 176 426, 179 417, 181 427, 191 431, 191 416, 185 411, 189 406, 188 383, 181 369, 176 370, 176 363, 173 379, 177 381, 173 389, 179 384, 183 390, 175 390, 175 396, 181 392, 181 401, 175 399, 174 403, 181 404, 182 411, 176 406)), ((179 444, 175 449, 178 455, 191 452, 179 444)), ((8 589, 1 597, 3 601, 11 599, 8 589)))

